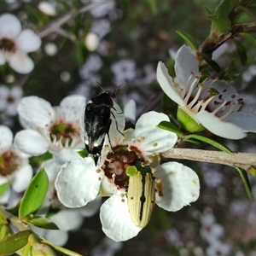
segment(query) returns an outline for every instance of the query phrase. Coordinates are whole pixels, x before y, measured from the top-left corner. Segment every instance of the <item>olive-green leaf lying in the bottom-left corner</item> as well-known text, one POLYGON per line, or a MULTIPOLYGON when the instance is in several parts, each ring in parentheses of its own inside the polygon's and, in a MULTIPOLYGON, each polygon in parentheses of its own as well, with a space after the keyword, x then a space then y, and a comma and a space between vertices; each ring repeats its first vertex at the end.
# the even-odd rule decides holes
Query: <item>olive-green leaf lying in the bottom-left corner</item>
POLYGON ((27 244, 31 230, 23 230, 0 241, 0 255, 15 253, 27 244))

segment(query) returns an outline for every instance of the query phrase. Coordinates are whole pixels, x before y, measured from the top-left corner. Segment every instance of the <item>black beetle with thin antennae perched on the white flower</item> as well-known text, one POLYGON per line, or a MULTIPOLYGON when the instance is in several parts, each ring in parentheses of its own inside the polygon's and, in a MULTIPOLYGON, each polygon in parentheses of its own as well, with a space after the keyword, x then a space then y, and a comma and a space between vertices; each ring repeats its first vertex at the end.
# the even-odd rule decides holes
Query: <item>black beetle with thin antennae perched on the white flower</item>
MULTIPOLYGON (((112 122, 110 117, 111 114, 113 115, 111 108, 113 108, 115 92, 116 90, 112 91, 102 89, 97 96, 87 103, 84 111, 85 148, 89 154, 94 156, 95 162, 97 162, 98 157, 101 154, 105 136, 106 134, 108 135, 108 131, 110 129, 112 122)), ((113 110, 116 111, 115 108, 113 108, 113 110)), ((115 119, 114 115, 113 118, 115 119)), ((119 131, 118 127, 117 130, 119 131)), ((109 135, 108 140, 110 143, 109 135)))

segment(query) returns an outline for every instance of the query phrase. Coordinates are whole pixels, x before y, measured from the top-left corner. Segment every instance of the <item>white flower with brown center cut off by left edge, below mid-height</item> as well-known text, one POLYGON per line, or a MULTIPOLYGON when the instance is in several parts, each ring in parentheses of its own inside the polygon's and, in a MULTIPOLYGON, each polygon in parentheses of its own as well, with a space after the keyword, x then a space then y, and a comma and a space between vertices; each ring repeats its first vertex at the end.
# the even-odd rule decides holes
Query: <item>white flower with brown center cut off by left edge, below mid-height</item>
MULTIPOLYGON (((13 133, 7 126, 0 125, 0 185, 9 183, 15 192, 26 189, 32 179, 32 166, 28 159, 13 145, 13 133)), ((0 197, 0 203, 7 203, 11 190, 0 197)))

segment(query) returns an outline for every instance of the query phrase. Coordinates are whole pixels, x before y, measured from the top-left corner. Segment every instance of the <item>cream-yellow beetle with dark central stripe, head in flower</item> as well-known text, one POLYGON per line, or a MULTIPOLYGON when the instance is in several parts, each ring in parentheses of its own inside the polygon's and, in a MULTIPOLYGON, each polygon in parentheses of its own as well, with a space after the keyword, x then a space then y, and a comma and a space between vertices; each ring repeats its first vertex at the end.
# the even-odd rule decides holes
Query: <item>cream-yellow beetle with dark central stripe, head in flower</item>
POLYGON ((129 177, 127 201, 132 222, 138 227, 145 227, 151 218, 155 201, 155 182, 151 169, 150 172, 138 171, 129 177))

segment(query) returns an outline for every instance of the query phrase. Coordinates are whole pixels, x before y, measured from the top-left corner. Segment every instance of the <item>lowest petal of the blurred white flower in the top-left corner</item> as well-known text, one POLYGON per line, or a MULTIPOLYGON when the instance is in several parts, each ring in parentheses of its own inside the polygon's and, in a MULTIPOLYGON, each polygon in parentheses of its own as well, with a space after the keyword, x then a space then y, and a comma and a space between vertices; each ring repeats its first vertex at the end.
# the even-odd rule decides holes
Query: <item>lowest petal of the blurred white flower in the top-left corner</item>
POLYGON ((15 52, 14 55, 9 57, 9 67, 15 70, 17 73, 31 73, 34 68, 32 59, 23 52, 15 52))

